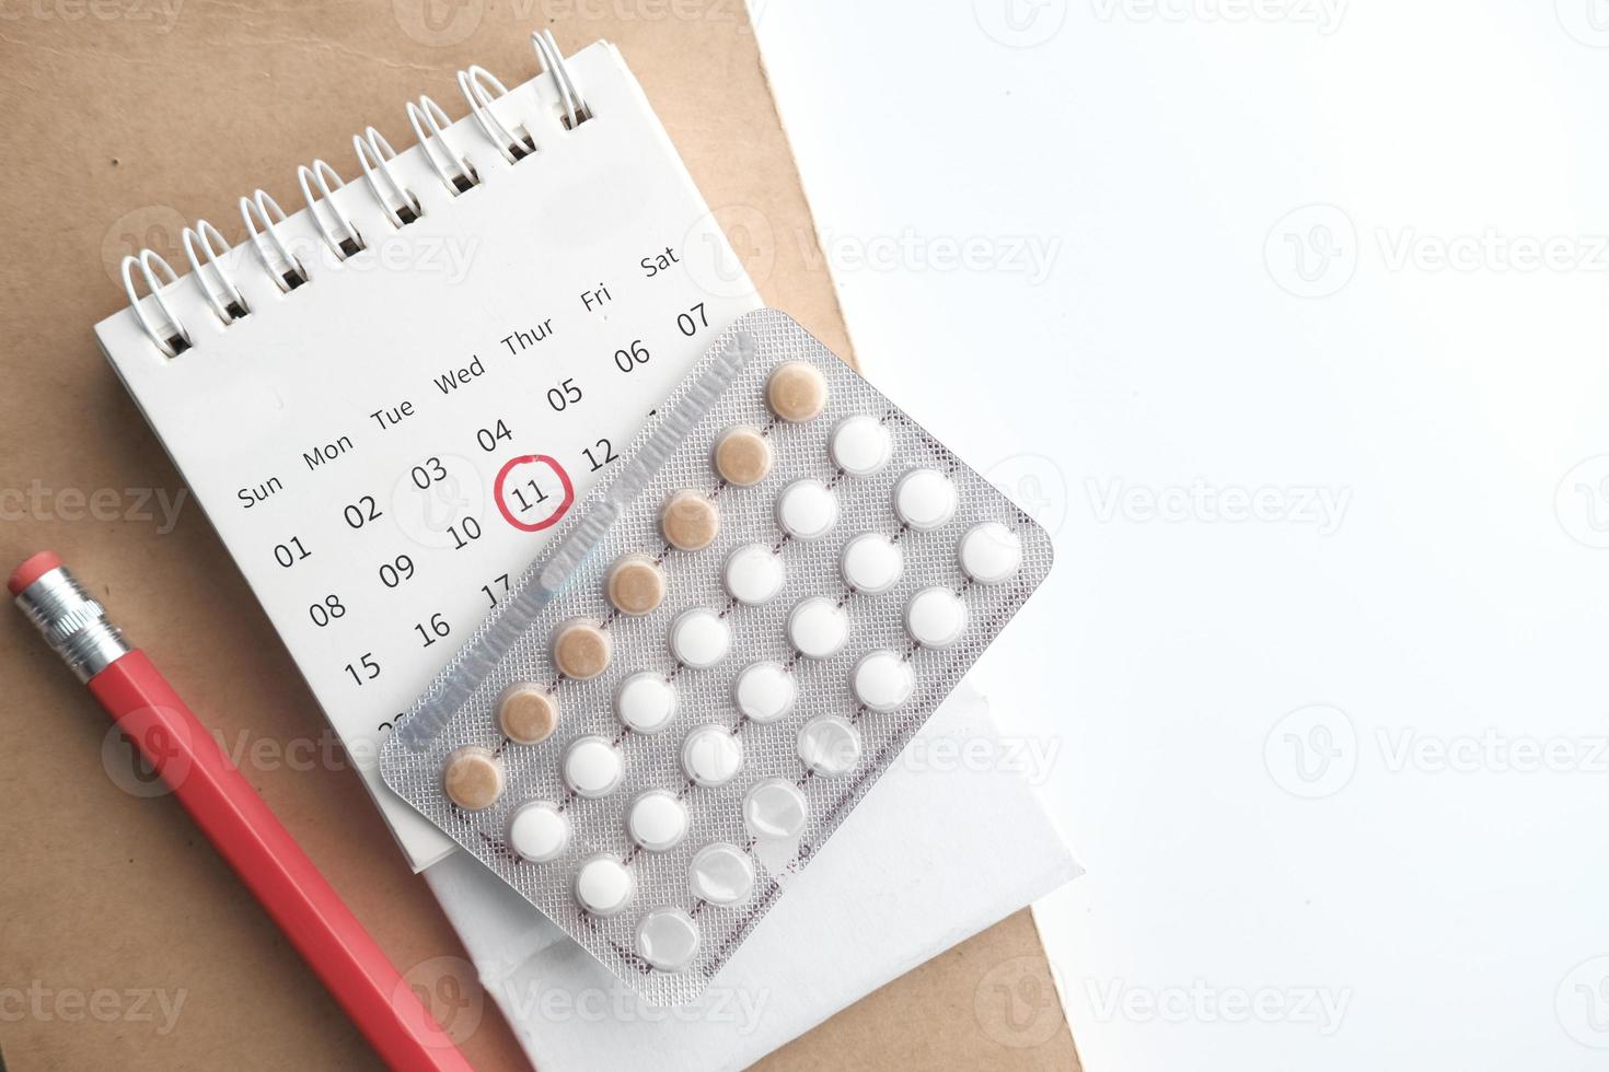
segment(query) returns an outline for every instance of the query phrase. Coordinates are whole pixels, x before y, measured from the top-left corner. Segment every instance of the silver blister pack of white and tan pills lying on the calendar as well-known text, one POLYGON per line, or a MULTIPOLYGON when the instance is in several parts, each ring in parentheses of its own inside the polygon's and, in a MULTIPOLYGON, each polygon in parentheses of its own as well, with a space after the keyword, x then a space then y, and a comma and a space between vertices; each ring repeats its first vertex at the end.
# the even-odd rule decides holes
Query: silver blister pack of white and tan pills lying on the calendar
POLYGON ((687 1004, 1051 556, 798 323, 747 313, 397 723, 381 770, 647 1001, 687 1004))

